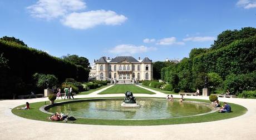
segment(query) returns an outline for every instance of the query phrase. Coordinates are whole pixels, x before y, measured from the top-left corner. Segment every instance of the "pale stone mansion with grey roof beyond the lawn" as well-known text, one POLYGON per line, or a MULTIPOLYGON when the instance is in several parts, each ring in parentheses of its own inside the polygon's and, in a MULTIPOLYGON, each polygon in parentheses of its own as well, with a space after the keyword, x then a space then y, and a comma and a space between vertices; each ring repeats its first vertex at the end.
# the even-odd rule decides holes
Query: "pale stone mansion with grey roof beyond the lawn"
POLYGON ((144 59, 135 59, 131 56, 117 56, 110 59, 101 57, 94 60, 90 69, 90 78, 96 80, 132 81, 151 80, 153 77, 152 60, 145 57, 144 59))

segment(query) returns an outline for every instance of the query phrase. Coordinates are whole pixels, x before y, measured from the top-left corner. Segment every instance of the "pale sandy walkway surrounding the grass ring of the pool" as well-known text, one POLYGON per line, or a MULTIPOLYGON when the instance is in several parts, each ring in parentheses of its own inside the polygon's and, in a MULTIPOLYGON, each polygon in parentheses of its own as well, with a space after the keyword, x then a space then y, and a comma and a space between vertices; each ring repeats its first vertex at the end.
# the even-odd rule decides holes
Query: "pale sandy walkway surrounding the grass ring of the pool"
MULTIPOLYGON (((107 88, 110 86, 104 89, 107 88)), ((99 93, 96 91, 88 95, 78 95, 75 98, 124 97, 124 94, 99 95, 97 92, 99 93)), ((134 95, 135 97, 166 97, 166 94, 154 92, 156 94, 134 95)), ((174 95, 174 97, 180 96, 174 95)), ((184 98, 208 99, 209 97, 184 96, 184 98)), ((43 122, 15 116, 9 109, 27 101, 47 100, 47 98, 35 98, 0 101, 0 139, 256 139, 256 99, 219 98, 220 101, 246 107, 248 112, 240 117, 214 122, 164 126, 99 126, 43 122)))

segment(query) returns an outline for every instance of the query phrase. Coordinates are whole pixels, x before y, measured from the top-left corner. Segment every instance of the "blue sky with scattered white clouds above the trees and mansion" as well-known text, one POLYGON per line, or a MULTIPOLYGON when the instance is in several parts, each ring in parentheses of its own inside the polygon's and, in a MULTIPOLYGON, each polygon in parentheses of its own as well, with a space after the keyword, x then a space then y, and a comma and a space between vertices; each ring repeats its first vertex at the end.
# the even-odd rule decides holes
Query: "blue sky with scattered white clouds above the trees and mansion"
POLYGON ((52 56, 182 59, 227 29, 256 27, 256 0, 1 0, 0 37, 52 56))

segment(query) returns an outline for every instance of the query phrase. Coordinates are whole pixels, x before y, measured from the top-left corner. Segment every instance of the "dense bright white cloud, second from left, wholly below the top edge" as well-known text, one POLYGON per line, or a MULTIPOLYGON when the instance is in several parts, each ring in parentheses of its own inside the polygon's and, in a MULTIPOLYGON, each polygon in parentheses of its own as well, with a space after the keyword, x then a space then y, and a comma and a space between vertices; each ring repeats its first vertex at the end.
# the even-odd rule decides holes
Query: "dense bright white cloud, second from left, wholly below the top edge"
POLYGON ((116 14, 114 11, 88 11, 81 13, 70 13, 64 17, 61 22, 65 26, 75 29, 87 29, 97 25, 120 25, 127 18, 122 14, 116 14))

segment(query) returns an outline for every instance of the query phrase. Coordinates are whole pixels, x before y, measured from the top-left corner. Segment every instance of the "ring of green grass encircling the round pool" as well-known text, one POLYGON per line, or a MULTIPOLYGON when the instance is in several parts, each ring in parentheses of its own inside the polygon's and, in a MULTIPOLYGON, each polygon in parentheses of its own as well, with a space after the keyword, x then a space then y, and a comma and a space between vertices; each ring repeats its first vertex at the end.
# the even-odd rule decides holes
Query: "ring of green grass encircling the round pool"
MULTIPOLYGON (((115 97, 111 97, 115 98, 115 97)), ((137 97, 140 98, 140 97, 137 97)), ((143 97, 145 98, 145 97, 143 97)), ((87 98, 89 99, 89 98, 87 98)), ((93 98, 91 98, 93 99, 93 98)), ((210 101, 206 100, 199 100, 199 99, 186 99, 189 101, 199 101, 199 102, 207 102, 210 101)), ((60 102, 64 100, 58 100, 56 102, 60 102)), ((35 119, 39 121, 47 121, 47 122, 55 122, 55 123, 65 123, 62 121, 51 121, 46 119, 50 116, 50 114, 43 113, 39 110, 41 106, 45 104, 49 104, 50 102, 36 102, 31 103, 29 110, 21 110, 13 108, 12 113, 16 114, 17 116, 28 118, 28 119, 35 119)), ((222 103, 223 104, 223 103, 222 103)), ((75 124, 101 124, 101 125, 116 125, 116 126, 149 126, 149 125, 163 125, 163 124, 183 124, 183 123, 200 123, 200 122, 210 122, 210 121, 217 121, 220 119, 228 119, 237 116, 241 116, 247 112, 247 108, 240 106, 238 104, 229 103, 232 106, 231 113, 210 113, 204 114, 202 116, 193 116, 193 117, 184 117, 184 118, 170 118, 170 119, 145 119, 145 120, 109 120, 109 119, 86 119, 86 118, 77 118, 75 122, 67 122, 67 123, 75 123, 75 124)), ((18 106, 24 107, 25 104, 18 106)), ((76 116, 75 116, 76 117, 76 116)))

